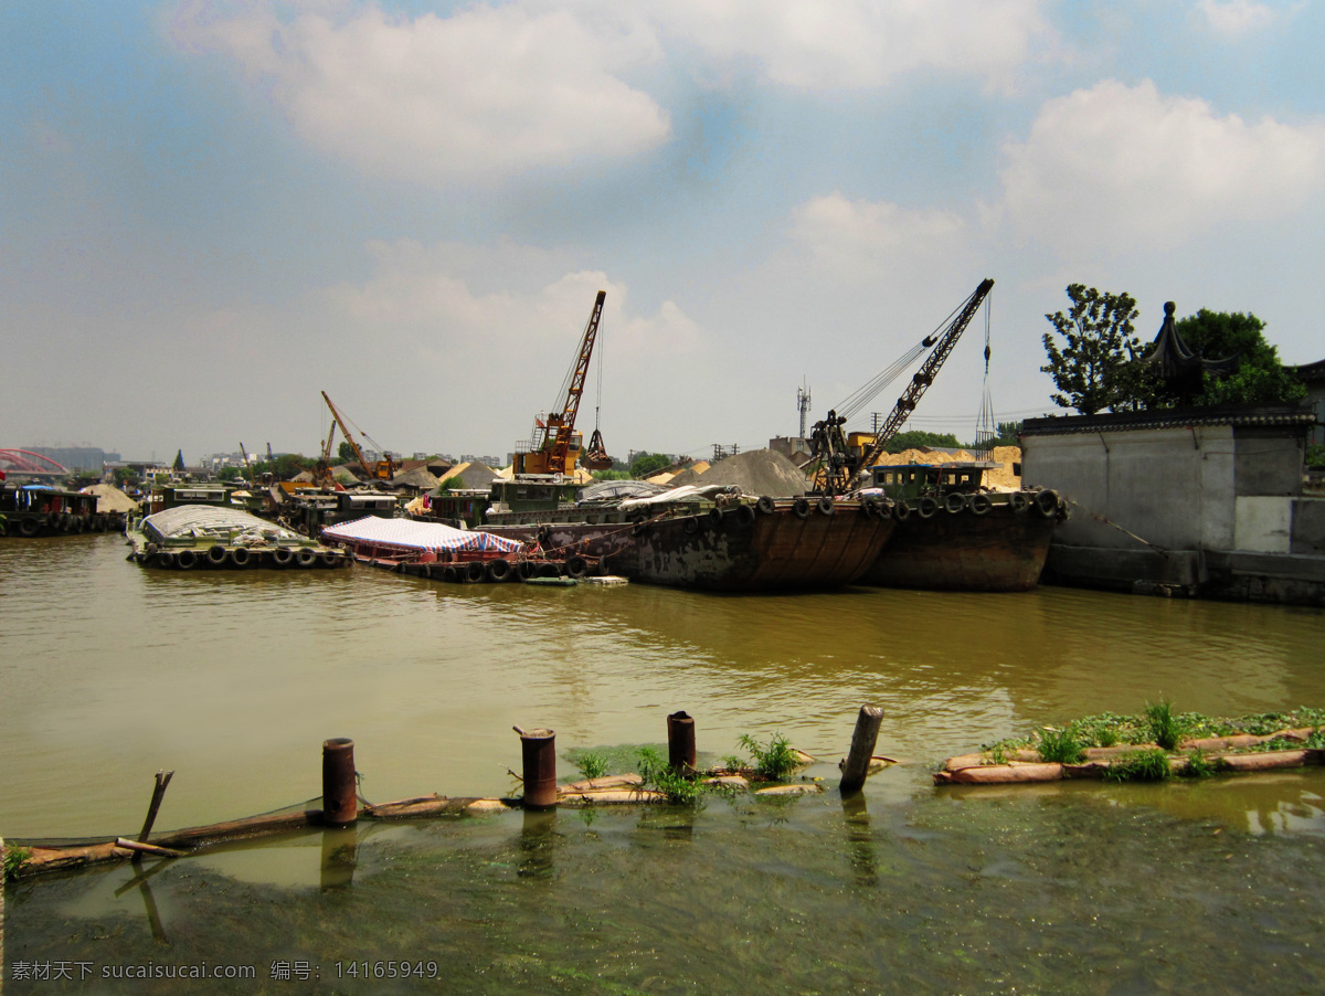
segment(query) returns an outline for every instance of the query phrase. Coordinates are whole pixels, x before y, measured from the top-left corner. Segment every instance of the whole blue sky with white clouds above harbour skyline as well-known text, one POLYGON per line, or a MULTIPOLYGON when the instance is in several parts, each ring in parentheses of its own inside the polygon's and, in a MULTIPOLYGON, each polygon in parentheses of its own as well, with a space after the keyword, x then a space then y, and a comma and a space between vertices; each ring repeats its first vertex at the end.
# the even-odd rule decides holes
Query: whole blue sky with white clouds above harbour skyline
POLYGON ((326 391, 506 454, 598 290, 619 457, 794 436, 986 277, 906 428, 1059 411, 1076 282, 1316 362, 1322 38, 1312 0, 3 4, 0 448, 314 454, 326 391))

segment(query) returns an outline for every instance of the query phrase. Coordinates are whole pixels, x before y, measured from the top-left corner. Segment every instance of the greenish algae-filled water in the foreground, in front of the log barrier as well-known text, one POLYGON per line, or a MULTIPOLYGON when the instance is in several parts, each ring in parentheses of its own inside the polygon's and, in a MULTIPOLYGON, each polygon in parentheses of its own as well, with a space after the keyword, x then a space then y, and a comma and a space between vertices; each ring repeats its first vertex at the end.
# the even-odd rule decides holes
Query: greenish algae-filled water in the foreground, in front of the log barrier
MULTIPOLYGON (((115 897, 123 865, 11 886, 7 958, 242 962, 258 968, 245 992, 428 991, 335 975, 390 959, 435 959, 432 991, 478 993, 1321 991, 1325 836, 1255 837, 1136 801, 1206 784, 416 824, 370 836, 326 887, 167 864, 147 879, 160 938, 140 885, 115 897), (89 891, 106 909, 72 914, 89 891), (272 980, 273 962, 321 981, 272 980)), ((1325 779, 1283 784, 1318 812, 1325 779)))

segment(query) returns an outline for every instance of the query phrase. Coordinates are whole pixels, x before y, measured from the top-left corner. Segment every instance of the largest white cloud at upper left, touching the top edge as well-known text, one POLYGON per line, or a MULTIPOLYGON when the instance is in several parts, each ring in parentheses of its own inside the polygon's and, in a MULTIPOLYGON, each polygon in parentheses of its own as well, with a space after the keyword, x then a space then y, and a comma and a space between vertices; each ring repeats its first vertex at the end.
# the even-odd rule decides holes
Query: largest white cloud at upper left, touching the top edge
POLYGON ((170 30, 187 52, 233 58, 310 144, 376 176, 501 179, 636 155, 670 134, 666 113, 616 75, 656 58, 649 33, 570 11, 407 20, 368 5, 282 21, 264 4, 217 16, 191 0, 170 30))

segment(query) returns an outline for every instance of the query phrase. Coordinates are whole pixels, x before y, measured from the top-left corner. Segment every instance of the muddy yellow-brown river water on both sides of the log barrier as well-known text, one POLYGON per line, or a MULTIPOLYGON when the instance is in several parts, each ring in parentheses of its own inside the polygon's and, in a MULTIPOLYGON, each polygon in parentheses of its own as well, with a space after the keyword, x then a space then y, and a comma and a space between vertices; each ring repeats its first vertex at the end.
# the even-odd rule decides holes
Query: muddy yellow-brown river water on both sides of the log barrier
POLYGON ((1322 706, 1320 611, 454 587, 125 554, 0 540, 0 836, 134 836, 162 768, 162 830, 298 805, 333 736, 355 740, 375 803, 501 796, 513 724, 554 728, 564 755, 661 744, 680 709, 701 760, 780 732, 827 791, 364 824, 24 879, 5 889, 7 992, 1325 991, 1325 772, 930 779, 947 755, 1161 698, 1322 706), (836 762, 867 702, 901 763, 844 803, 836 762))

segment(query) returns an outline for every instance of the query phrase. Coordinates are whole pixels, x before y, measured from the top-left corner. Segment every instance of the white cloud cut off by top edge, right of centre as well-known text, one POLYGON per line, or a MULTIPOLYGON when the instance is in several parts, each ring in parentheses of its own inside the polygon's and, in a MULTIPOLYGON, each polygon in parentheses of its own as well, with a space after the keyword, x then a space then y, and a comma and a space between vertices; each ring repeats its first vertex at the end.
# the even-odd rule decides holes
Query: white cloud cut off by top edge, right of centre
POLYGON ((661 0, 659 25, 771 82, 863 89, 934 68, 1006 85, 1051 41, 1040 0, 661 0))

